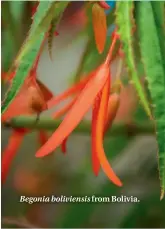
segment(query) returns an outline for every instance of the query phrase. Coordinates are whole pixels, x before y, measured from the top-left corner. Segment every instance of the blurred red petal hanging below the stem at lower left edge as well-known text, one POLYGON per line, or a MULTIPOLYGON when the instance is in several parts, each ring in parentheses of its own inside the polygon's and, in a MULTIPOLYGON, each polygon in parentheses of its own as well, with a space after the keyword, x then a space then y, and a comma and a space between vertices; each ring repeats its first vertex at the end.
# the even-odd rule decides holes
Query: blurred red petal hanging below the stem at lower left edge
POLYGON ((10 169, 10 165, 20 147, 20 144, 23 140, 25 133, 26 133, 25 130, 23 131, 14 130, 12 132, 12 135, 10 136, 8 146, 4 150, 3 155, 2 155, 2 174, 1 174, 2 183, 4 183, 7 178, 7 175, 10 169))

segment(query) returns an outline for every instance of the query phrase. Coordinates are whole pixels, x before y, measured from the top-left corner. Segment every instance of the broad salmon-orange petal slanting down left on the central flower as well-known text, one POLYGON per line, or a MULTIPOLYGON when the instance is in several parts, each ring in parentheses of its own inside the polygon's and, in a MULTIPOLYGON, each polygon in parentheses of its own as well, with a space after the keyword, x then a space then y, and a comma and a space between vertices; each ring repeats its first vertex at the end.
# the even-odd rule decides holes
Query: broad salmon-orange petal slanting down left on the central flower
POLYGON ((88 81, 61 125, 54 132, 48 142, 46 142, 46 144, 36 153, 36 157, 43 157, 50 154, 66 137, 68 137, 92 106, 94 99, 103 88, 109 74, 109 66, 102 64, 95 77, 88 81))

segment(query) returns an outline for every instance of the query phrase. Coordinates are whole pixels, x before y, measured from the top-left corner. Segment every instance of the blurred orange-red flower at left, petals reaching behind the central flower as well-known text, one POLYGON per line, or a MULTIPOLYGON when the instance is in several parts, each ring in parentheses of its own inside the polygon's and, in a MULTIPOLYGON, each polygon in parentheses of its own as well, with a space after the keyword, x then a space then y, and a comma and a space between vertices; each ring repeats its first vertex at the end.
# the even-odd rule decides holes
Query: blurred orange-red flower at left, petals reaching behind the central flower
MULTIPOLYGON (((37 57, 36 63, 34 64, 33 69, 30 71, 28 78, 25 80, 25 83, 21 91, 19 92, 15 100, 12 102, 8 110, 2 115, 3 122, 15 116, 18 116, 18 115, 25 115, 25 114, 31 115, 35 113, 40 113, 42 110, 47 109, 47 104, 44 101, 49 101, 50 99, 52 99, 53 94, 49 91, 49 89, 42 82, 37 80, 36 69, 37 69, 38 61, 39 61, 39 57, 37 57)), ((4 73, 4 75, 5 75, 5 79, 7 79, 7 81, 9 82, 14 78, 15 72, 12 72, 10 76, 6 73, 4 73)), ((74 85, 74 87, 72 88, 73 89, 75 88, 76 90, 75 89, 70 90, 70 92, 73 92, 73 93, 77 92, 79 88, 81 88, 79 87, 81 83, 74 85)), ((69 93, 69 95, 72 95, 72 94, 69 93)), ((62 99, 65 99, 65 93, 62 99)), ((57 97, 57 100, 58 100, 57 101, 57 104, 58 104, 61 101, 60 97, 57 97)), ((64 115, 72 107, 75 101, 76 101, 76 98, 71 100, 61 110, 58 110, 57 112, 55 112, 53 114, 53 117, 58 118, 64 115)), ((17 153, 24 136, 27 133, 29 133, 29 130, 27 129, 13 130, 13 133, 9 139, 8 146, 6 147, 6 149, 3 152, 2 182, 6 180, 12 160, 15 154, 17 153)), ((47 133, 45 131, 40 130, 38 133, 38 140, 41 146, 44 145, 48 140, 47 133)), ((65 139, 61 145, 61 149, 63 153, 66 152, 66 142, 67 142, 67 139, 65 139)))

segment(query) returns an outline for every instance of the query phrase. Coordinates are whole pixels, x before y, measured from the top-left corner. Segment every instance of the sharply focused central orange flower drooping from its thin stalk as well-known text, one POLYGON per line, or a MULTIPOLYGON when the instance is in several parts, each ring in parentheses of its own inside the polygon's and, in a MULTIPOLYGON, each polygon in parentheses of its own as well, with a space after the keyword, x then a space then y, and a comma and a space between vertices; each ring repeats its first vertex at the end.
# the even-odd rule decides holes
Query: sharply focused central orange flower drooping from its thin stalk
MULTIPOLYGON (((105 128, 105 119, 107 119, 108 100, 110 93, 110 62, 112 58, 112 51, 117 40, 117 35, 113 36, 112 44, 107 55, 106 60, 101 66, 95 70, 89 78, 79 83, 81 92, 76 97, 76 100, 67 115, 63 119, 61 125, 53 133, 50 139, 43 145, 36 157, 44 157, 55 150, 61 143, 68 138, 71 132, 80 123, 84 115, 94 106, 93 119, 92 119, 92 146, 94 153, 97 154, 99 163, 109 177, 109 179, 116 185, 121 186, 120 179, 116 176, 113 169, 108 163, 103 149, 103 135, 105 128)), ((72 88, 66 91, 62 96, 52 99, 48 102, 48 107, 52 107, 57 102, 64 98, 66 94, 71 91, 76 91, 77 88, 72 88)))

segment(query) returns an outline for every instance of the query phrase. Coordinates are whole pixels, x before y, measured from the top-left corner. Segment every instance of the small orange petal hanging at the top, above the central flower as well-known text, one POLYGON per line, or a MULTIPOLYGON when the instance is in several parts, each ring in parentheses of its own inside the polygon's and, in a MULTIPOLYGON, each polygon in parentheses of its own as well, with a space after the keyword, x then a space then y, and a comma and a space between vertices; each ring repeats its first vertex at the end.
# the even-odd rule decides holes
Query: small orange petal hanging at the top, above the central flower
POLYGON ((92 22, 95 36, 95 42, 99 53, 104 51, 107 37, 107 22, 104 9, 97 3, 92 7, 92 22))

